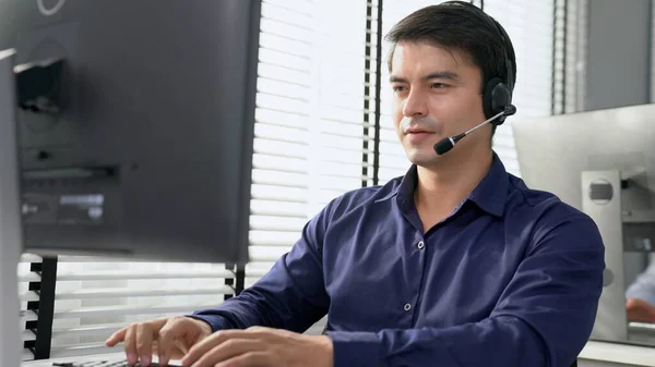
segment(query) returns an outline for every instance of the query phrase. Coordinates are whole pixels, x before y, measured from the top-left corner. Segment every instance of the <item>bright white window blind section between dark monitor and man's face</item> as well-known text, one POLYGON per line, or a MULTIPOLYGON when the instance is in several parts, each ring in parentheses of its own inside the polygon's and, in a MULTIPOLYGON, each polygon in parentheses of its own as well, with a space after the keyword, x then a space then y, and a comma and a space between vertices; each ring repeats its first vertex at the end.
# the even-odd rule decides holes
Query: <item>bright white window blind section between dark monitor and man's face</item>
POLYGON ((372 180, 367 11, 365 0, 262 3, 247 288, 331 199, 372 180))

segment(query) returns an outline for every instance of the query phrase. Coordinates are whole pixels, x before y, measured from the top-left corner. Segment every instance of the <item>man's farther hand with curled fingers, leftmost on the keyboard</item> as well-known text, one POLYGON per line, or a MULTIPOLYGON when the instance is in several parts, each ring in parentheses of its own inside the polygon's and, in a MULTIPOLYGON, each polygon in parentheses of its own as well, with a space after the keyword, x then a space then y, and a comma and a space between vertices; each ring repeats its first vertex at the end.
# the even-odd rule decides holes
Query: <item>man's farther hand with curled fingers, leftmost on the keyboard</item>
POLYGON ((172 359, 182 358, 196 343, 212 333, 209 323, 189 317, 155 319, 132 323, 115 332, 105 344, 115 346, 123 343, 128 363, 139 360, 150 366, 153 354, 159 356, 159 365, 166 366, 172 359))

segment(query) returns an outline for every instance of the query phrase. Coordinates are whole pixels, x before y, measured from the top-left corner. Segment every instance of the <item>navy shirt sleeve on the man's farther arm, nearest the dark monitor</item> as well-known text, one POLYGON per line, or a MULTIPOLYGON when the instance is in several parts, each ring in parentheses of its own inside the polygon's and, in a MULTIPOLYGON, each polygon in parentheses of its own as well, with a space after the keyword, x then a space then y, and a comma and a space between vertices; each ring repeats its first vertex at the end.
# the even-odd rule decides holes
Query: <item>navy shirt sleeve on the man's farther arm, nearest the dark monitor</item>
POLYGON ((333 203, 305 225, 291 250, 252 286, 189 317, 206 321, 213 331, 262 326, 303 332, 320 320, 330 305, 321 254, 333 203))

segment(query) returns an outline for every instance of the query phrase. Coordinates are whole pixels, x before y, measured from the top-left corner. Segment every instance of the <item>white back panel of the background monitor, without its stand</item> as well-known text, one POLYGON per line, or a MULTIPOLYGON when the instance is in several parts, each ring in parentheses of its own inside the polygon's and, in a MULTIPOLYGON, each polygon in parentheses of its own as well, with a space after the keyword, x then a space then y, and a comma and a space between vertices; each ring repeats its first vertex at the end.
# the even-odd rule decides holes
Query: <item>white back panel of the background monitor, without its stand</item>
POLYGON ((631 209, 655 204, 655 105, 641 105, 513 123, 521 176, 582 210, 581 172, 621 170, 634 184, 622 192, 631 209))

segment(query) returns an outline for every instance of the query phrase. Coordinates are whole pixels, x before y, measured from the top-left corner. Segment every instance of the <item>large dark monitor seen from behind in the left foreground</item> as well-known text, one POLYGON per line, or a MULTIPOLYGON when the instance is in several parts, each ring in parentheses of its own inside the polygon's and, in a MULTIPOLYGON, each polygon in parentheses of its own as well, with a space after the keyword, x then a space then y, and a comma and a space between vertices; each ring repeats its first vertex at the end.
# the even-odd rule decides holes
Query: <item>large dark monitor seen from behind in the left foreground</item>
POLYGON ((0 0, 24 250, 246 262, 260 16, 254 0, 0 0), (22 100, 39 83, 55 103, 22 100))

